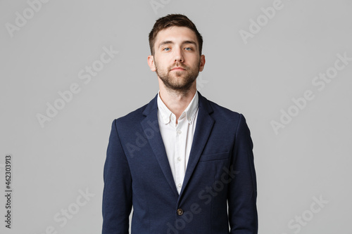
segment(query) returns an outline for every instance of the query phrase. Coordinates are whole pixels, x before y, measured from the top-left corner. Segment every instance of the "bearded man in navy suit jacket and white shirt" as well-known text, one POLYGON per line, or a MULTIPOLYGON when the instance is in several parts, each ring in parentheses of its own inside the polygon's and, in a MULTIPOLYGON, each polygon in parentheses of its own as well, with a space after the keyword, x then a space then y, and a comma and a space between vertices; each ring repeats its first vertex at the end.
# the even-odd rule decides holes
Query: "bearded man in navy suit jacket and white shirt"
POLYGON ((203 39, 184 15, 156 20, 148 64, 159 91, 112 124, 103 234, 258 233, 253 144, 244 116, 196 90, 203 39), (230 226, 230 228, 229 228, 230 226))

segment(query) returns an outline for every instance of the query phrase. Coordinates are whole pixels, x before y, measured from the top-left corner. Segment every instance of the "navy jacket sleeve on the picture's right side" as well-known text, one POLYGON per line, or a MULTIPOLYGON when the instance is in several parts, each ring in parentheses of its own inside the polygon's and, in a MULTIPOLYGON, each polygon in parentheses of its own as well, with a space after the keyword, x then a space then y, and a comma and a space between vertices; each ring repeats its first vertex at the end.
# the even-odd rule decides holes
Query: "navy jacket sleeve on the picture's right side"
POLYGON ((257 234, 257 185, 253 162, 253 142, 243 115, 235 136, 230 171, 234 178, 229 185, 228 205, 231 234, 257 234))

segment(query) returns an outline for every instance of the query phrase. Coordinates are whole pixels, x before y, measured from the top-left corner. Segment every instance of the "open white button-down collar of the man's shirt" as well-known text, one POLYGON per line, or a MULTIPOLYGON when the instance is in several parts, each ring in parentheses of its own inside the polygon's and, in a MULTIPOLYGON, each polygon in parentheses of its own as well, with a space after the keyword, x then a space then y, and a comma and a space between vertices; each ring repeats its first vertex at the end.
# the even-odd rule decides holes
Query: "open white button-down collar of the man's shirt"
MULTIPOLYGON (((192 98, 191 102, 187 106, 187 108, 182 112, 182 117, 186 117, 187 121, 189 124, 194 120, 194 117, 196 117, 196 111, 198 110, 198 102, 199 102, 199 97, 198 97, 198 91, 194 94, 194 97, 192 98)), ((161 114, 161 118, 163 119, 164 124, 168 124, 171 121, 172 115, 173 114, 168 107, 163 103, 163 100, 160 98, 160 90, 158 91, 158 110, 161 114)))

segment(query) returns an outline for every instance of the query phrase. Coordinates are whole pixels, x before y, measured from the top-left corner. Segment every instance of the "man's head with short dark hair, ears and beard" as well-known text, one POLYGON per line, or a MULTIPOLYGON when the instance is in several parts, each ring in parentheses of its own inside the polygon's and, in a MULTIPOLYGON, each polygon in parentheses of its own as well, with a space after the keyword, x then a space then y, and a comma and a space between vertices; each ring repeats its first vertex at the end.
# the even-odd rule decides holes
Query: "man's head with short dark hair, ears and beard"
POLYGON ((159 86, 182 92, 196 89, 196 77, 206 60, 201 55, 203 39, 191 20, 184 15, 156 20, 149 44, 148 64, 158 75, 159 86))

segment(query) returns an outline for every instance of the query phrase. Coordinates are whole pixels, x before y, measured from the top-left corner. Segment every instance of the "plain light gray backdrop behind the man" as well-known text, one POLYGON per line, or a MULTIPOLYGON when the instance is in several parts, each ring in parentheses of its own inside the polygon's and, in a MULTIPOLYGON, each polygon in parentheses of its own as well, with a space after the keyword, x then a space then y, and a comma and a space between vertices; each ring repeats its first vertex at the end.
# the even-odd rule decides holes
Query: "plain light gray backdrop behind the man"
POLYGON ((199 91, 243 113, 251 129, 259 233, 352 233, 352 61, 321 91, 312 84, 319 73, 333 71, 338 53, 352 57, 352 2, 282 0, 245 44, 240 30, 250 32, 250 20, 265 20, 260 8, 274 3, 49 1, 30 15, 27 1, 0 1, 3 192, 4 158, 13 155, 13 223, 11 230, 4 227, 1 195, 0 232, 42 234, 52 226, 57 233, 101 233, 111 122, 156 95, 157 77, 146 63, 149 31, 157 18, 184 13, 204 39, 199 91), (15 25, 16 12, 24 11, 29 19, 11 35, 6 24, 15 25), (86 66, 99 64, 104 46, 118 54, 89 82, 80 79, 86 66), (54 105, 58 91, 74 83, 80 92, 42 127, 37 114, 46 115, 46 103, 54 105), (315 98, 302 110, 292 108, 292 98, 306 90, 315 98), (289 108, 297 115, 275 134, 270 122, 289 108), (80 190, 91 197, 79 207, 80 190), (328 203, 315 214, 310 207, 320 196, 328 203), (75 214, 65 225, 54 220, 69 207, 75 214), (290 228, 302 215, 308 221, 290 228))

